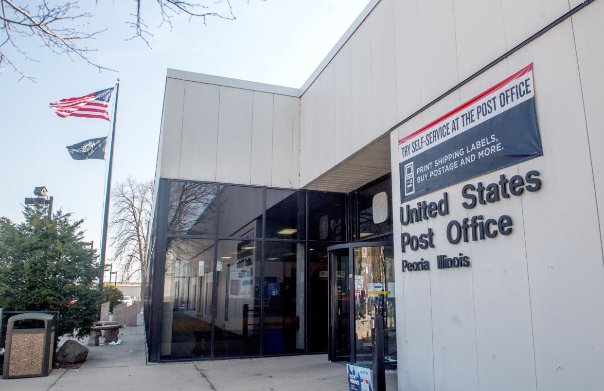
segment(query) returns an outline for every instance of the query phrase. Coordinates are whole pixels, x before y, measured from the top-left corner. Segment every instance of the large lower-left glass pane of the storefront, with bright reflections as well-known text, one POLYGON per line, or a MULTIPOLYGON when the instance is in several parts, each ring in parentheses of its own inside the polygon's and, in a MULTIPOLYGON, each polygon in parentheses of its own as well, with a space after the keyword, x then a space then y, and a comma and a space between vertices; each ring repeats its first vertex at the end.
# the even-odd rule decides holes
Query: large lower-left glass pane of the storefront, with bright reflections
POLYGON ((168 239, 162 358, 209 358, 214 241, 168 239))

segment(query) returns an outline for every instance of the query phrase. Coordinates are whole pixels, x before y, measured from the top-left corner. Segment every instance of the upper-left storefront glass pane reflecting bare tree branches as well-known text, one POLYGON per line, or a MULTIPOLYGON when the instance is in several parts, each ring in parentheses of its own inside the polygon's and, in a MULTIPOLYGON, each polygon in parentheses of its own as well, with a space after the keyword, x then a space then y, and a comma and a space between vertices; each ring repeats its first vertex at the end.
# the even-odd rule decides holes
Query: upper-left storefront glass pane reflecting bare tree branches
POLYGON ((216 234, 216 184, 173 181, 170 185, 168 232, 216 234))

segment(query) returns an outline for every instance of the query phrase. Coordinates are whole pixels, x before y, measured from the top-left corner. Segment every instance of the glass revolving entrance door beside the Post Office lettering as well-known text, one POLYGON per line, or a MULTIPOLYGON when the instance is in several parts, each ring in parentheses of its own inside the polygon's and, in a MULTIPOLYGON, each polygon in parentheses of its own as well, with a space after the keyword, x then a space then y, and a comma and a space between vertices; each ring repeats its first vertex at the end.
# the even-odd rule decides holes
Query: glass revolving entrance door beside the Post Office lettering
POLYGON ((390 242, 336 245, 330 254, 330 360, 373 362, 370 320, 384 319, 387 366, 396 365, 394 257, 390 242))

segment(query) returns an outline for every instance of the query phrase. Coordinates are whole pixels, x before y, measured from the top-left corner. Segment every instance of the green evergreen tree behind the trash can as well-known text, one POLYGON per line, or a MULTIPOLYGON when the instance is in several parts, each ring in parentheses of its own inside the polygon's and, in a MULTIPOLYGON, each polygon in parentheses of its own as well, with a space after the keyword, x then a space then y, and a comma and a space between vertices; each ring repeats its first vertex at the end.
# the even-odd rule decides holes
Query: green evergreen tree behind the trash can
POLYGON ((83 244, 82 220, 71 213, 25 207, 25 221, 0 218, 0 307, 5 311, 60 311, 58 335, 89 334, 98 319, 100 268, 83 244), (76 300, 75 303, 71 303, 76 300))

